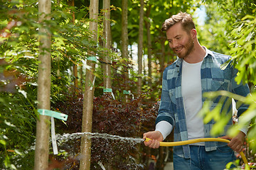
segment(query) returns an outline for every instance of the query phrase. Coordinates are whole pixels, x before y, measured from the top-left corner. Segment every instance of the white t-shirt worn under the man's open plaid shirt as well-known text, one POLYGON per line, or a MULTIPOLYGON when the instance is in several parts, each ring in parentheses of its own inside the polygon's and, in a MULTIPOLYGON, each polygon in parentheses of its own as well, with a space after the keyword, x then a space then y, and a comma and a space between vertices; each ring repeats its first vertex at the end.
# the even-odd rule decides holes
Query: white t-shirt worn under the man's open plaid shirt
POLYGON ((198 116, 198 112, 203 106, 201 86, 202 62, 191 64, 183 60, 182 63, 181 95, 186 115, 188 140, 204 137, 203 118, 198 116))

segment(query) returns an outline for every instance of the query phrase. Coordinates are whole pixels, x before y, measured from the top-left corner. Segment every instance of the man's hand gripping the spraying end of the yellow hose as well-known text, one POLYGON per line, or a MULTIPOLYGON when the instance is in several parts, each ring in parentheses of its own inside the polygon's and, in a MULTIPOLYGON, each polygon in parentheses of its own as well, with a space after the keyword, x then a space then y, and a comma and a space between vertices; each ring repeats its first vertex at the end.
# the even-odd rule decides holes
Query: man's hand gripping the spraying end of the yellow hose
POLYGON ((144 141, 144 145, 154 149, 159 148, 160 147, 159 142, 164 140, 163 135, 161 135, 161 132, 159 131, 146 132, 143 134, 143 139, 146 140, 146 137, 148 137, 151 140, 149 140, 149 142, 144 141))

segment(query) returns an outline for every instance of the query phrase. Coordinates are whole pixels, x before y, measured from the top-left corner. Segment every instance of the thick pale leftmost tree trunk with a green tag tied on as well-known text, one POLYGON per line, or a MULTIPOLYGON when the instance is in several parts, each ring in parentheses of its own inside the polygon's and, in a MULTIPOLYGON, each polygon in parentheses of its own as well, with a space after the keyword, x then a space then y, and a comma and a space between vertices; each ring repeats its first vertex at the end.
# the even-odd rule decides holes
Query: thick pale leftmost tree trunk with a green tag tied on
MULTIPOLYGON (((39 23, 50 20, 50 0, 38 1, 39 23)), ((39 29, 38 109, 50 110, 50 33, 43 25, 39 29)), ((48 168, 50 117, 39 115, 36 120, 36 152, 34 169, 48 168)))

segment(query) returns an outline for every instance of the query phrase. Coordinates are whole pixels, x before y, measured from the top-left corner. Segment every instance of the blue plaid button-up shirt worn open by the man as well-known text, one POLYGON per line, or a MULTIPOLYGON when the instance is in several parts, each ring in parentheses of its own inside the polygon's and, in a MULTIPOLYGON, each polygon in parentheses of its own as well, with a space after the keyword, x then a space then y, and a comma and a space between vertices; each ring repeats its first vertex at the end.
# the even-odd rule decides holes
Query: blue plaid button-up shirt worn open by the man
MULTIPOLYGON (((230 91, 234 94, 247 96, 247 94, 250 93, 247 84, 237 84, 235 81, 235 76, 238 71, 230 64, 228 64, 228 67, 225 69, 220 69, 220 65, 228 61, 230 56, 211 52, 207 49, 206 52, 207 55, 204 57, 201 66, 202 94, 208 91, 230 91)), ((159 114, 156 118, 156 123, 165 120, 174 126, 174 142, 188 140, 186 115, 183 106, 183 98, 181 96, 181 72, 182 60, 179 58, 164 70, 161 102, 159 106, 159 114)), ((202 98, 202 101, 206 101, 206 98, 202 98)), ((210 110, 217 106, 217 103, 218 100, 212 101, 210 110)), ((238 115, 246 109, 247 108, 244 105, 240 106, 240 108, 238 108, 238 115)), ((229 113, 231 114, 231 112, 229 113)), ((214 120, 211 120, 204 125, 205 137, 210 137, 210 130, 214 123, 214 120)), ((225 126, 225 132, 230 125, 232 125, 232 119, 230 119, 228 125, 225 126)), ((217 147, 225 145, 227 144, 223 142, 206 142, 205 147, 206 151, 212 151, 217 147)), ((188 145, 174 147, 174 153, 180 157, 190 158, 188 145)))

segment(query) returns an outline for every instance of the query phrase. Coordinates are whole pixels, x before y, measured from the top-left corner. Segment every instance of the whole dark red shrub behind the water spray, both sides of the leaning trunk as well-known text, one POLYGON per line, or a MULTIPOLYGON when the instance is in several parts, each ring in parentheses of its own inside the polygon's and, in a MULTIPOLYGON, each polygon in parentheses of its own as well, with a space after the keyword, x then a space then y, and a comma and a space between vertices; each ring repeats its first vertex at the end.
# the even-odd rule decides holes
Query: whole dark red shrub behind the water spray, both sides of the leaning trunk
MULTIPOLYGON (((82 124, 82 95, 68 96, 67 100, 56 103, 55 108, 68 114, 66 125, 58 123, 60 132, 81 132, 82 124)), ((118 135, 120 137, 142 137, 142 133, 154 128, 158 104, 147 101, 147 95, 132 100, 130 103, 113 100, 112 96, 105 95, 94 98, 92 132, 100 134, 118 135)), ((70 154, 79 154, 80 140, 71 142, 73 145, 70 154)), ((141 144, 139 144, 141 145, 141 144)), ((63 148, 63 147, 62 147, 63 148)), ((70 147, 69 147, 70 149, 70 147)), ((92 166, 100 169, 98 162, 112 166, 115 169, 143 169, 139 168, 142 162, 137 163, 138 145, 122 140, 108 140, 92 138, 92 166), (137 168, 136 168, 137 167, 137 168)), ((141 156, 144 151, 139 152, 141 156)), ((63 162, 66 157, 58 157, 63 162)), ((76 165, 78 167, 78 165, 76 165)))

